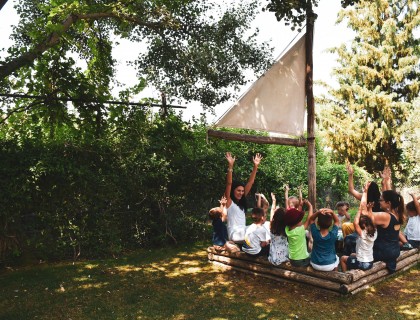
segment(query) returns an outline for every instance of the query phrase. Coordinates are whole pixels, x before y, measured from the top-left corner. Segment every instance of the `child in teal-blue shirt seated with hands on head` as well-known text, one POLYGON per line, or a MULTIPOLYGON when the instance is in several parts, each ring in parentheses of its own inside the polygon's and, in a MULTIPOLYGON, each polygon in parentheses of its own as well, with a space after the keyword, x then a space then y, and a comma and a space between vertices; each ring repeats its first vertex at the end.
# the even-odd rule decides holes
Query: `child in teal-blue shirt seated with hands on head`
POLYGON ((310 231, 313 237, 313 248, 311 252, 311 266, 319 271, 337 270, 340 262, 335 251, 335 241, 338 234, 338 217, 331 209, 321 209, 317 211, 310 219, 310 231), (318 218, 317 228, 315 219, 318 218), (334 225, 331 230, 331 224, 334 225))

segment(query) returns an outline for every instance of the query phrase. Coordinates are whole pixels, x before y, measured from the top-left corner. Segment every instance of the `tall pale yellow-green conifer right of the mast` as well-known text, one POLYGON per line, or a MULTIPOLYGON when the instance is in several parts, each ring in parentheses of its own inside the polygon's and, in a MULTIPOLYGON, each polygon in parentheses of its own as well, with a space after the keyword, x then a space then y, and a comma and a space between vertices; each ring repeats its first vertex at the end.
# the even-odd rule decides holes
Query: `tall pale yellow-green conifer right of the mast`
POLYGON ((342 10, 356 32, 338 54, 334 69, 339 87, 330 88, 321 113, 326 143, 336 159, 361 160, 370 172, 388 160, 400 168, 403 124, 419 94, 418 1, 360 1, 342 10), (417 48, 417 49, 416 49, 417 48))

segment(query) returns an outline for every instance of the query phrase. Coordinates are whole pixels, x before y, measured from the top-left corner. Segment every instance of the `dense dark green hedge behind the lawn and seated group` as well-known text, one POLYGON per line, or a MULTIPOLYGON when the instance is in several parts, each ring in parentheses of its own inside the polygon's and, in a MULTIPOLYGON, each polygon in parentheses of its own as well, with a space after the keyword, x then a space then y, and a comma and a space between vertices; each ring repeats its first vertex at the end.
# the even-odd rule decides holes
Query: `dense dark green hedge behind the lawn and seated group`
MULTIPOLYGON (((37 134, 24 126, 1 131, 1 260, 76 259, 208 239, 207 211, 224 192, 226 151, 237 157, 234 178, 244 182, 252 156, 264 155, 250 206, 255 192, 275 192, 283 205, 286 183, 291 193, 302 185, 307 196, 305 148, 207 142, 203 119, 133 109, 100 134, 65 126, 43 134, 34 124, 30 131, 37 134)), ((342 200, 344 166, 319 147, 317 158, 319 205, 327 194, 342 200)))

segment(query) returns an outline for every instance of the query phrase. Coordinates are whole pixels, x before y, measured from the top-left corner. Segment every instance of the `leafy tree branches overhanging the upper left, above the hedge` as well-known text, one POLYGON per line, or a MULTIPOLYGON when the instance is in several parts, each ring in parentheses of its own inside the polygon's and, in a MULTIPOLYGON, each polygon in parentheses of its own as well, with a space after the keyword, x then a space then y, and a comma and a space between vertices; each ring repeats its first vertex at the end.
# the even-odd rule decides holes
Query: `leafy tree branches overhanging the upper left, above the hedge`
POLYGON ((108 82, 102 96, 94 92, 106 97, 115 71, 113 44, 126 38, 146 47, 133 61, 140 83, 147 78, 162 91, 212 106, 244 83, 245 70, 264 70, 271 52, 257 43, 257 33, 244 36, 259 10, 254 0, 228 8, 198 0, 25 0, 16 9, 15 44, 0 60, 0 82, 9 89, 25 90, 20 80, 60 51, 56 62, 70 56, 86 61, 92 86, 98 76, 101 87, 108 82))

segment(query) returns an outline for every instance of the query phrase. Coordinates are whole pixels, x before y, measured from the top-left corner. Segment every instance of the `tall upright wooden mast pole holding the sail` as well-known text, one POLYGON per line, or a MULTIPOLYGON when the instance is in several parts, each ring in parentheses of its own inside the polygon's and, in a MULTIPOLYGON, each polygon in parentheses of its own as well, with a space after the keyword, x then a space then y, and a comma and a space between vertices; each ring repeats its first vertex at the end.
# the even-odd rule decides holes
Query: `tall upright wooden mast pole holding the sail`
POLYGON ((314 13, 312 2, 308 0, 306 9, 306 105, 308 140, 308 199, 316 208, 316 153, 315 153, 315 105, 313 94, 313 37, 314 13))

